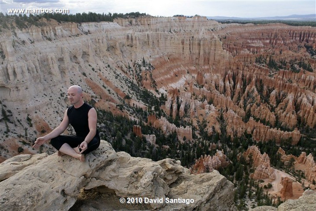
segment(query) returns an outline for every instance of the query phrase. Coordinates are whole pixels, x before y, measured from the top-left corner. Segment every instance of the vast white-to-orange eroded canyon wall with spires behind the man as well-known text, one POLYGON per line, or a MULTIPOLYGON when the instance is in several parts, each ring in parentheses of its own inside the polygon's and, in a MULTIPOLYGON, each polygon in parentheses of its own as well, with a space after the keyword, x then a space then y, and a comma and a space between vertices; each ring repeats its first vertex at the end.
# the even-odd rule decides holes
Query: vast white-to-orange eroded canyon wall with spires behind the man
MULTIPOLYGON (((2 160, 19 147, 34 152, 19 140, 30 144, 60 123, 73 84, 97 109, 138 119, 116 107, 128 94, 130 106, 148 108, 133 89, 137 84, 166 95, 162 109, 174 119, 197 128, 206 121, 209 134, 220 133, 223 114, 232 138, 249 133, 256 141, 296 144, 302 126, 316 125, 313 27, 220 24, 205 17, 12 24, 0 35, 1 144, 14 140, 2 160)), ((158 117, 155 127, 192 139, 190 126, 158 117)))

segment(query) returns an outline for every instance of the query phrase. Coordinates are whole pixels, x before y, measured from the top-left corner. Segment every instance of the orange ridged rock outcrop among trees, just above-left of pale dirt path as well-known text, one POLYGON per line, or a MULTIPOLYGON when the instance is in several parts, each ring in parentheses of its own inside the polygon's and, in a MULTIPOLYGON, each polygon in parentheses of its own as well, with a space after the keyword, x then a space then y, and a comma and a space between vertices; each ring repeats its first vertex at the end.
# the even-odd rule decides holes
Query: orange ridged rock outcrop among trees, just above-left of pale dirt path
POLYGON ((256 167, 254 173, 251 174, 253 179, 275 179, 276 175, 274 173, 273 168, 270 166, 270 158, 264 152, 260 153, 257 146, 251 146, 247 149, 246 152, 243 153, 244 158, 246 160, 252 160, 252 166, 256 167))

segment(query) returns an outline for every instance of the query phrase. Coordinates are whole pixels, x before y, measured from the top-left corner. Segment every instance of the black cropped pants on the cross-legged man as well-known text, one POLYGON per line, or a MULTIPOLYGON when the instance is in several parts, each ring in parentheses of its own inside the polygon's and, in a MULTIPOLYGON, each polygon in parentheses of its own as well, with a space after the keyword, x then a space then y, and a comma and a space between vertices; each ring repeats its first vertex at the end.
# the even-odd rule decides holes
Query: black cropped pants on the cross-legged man
MULTIPOLYGON (((59 135, 56 138, 51 139, 51 144, 55 147, 58 151, 63 144, 67 143, 72 148, 79 146, 85 137, 80 137, 76 135, 59 135)), ((93 150, 97 149, 100 145, 100 137, 98 135, 94 136, 94 138, 88 143, 88 149, 86 149, 83 154, 87 154, 92 152, 93 150)), ((79 149, 81 151, 81 149, 79 149)))

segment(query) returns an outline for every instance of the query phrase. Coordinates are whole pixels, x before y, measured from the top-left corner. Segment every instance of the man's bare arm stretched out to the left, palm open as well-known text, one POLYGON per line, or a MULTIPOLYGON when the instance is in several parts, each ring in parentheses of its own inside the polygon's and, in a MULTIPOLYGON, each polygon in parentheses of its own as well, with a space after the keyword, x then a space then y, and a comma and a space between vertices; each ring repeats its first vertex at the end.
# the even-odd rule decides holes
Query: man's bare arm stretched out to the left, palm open
POLYGON ((52 138, 59 136, 61 133, 63 133, 66 130, 66 128, 69 125, 67 110, 68 109, 66 109, 65 114, 64 114, 64 119, 60 123, 60 125, 58 127, 56 127, 52 132, 48 133, 47 135, 37 138, 36 141, 34 142, 33 148, 35 148, 35 149, 39 148, 46 141, 51 140, 52 138))

